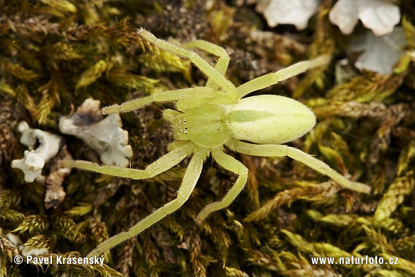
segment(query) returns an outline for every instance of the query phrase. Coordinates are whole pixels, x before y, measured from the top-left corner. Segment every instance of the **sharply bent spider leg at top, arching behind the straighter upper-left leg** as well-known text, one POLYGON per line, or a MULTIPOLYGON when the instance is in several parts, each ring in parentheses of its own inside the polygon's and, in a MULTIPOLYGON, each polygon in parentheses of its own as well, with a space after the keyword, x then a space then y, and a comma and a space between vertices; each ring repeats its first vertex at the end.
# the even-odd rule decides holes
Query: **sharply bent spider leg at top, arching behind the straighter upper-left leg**
MULTIPOLYGON (((214 69, 216 69, 216 71, 218 71, 222 75, 225 75, 226 70, 228 69, 230 57, 228 55, 228 52, 226 52, 224 48, 222 48, 221 46, 217 46, 216 44, 212 44, 212 42, 206 42, 203 39, 197 39, 193 42, 187 42, 183 44, 183 47, 199 48, 205 52, 215 55, 216 57, 219 57, 219 60, 216 62, 214 66, 214 69)), ((219 84, 216 84, 216 82, 214 82, 212 78, 208 78, 208 81, 206 82, 206 87, 218 89, 219 84)))

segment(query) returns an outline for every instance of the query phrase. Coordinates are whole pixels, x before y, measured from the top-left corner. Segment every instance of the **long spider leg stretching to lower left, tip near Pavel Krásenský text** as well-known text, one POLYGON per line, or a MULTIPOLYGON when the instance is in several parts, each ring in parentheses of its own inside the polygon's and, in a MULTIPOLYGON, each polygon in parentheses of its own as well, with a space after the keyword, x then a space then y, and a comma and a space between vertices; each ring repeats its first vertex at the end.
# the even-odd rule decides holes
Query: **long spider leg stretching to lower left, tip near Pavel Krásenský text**
POLYGON ((98 247, 93 249, 93 251, 88 254, 88 257, 91 258, 93 256, 98 256, 100 253, 116 247, 116 245, 120 244, 121 242, 133 238, 145 229, 149 228, 149 226, 163 219, 163 217, 166 215, 173 213, 174 211, 178 210, 178 208, 183 206, 183 204, 187 201, 187 199, 189 199, 190 195, 192 194, 194 186, 196 186, 196 182, 202 172, 203 161, 206 157, 208 157, 208 154, 209 152, 206 150, 195 152, 194 157, 187 167, 181 187, 178 189, 176 199, 158 208, 156 211, 154 211, 154 213, 151 213, 136 225, 132 226, 129 231, 114 235, 108 240, 105 240, 99 244, 98 247))

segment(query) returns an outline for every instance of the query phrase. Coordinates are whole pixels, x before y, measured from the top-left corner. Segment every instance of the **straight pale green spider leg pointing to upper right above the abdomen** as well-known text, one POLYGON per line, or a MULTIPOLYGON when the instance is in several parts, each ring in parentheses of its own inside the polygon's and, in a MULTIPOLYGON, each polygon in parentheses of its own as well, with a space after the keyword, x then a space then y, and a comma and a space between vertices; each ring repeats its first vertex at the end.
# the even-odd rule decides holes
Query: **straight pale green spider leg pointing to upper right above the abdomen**
POLYGON ((313 60, 297 62, 296 64, 286 67, 285 69, 281 69, 277 72, 268 73, 261 77, 255 78, 237 87, 239 97, 243 98, 243 96, 246 96, 248 93, 251 93, 252 91, 264 89, 273 84, 277 84, 278 82, 298 75, 299 73, 303 73, 308 69, 313 69, 314 67, 322 66, 324 64, 328 64, 329 62, 329 56, 321 55, 313 60))

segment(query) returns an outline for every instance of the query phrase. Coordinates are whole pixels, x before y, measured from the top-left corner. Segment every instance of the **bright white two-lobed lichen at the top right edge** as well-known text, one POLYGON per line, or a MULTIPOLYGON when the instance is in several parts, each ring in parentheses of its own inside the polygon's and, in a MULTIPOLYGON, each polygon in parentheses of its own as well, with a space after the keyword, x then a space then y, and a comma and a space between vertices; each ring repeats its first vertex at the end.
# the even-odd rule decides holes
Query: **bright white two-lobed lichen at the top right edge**
POLYGON ((388 0, 339 0, 330 11, 331 23, 345 35, 351 34, 360 19, 375 35, 387 35, 400 21, 400 11, 388 0))

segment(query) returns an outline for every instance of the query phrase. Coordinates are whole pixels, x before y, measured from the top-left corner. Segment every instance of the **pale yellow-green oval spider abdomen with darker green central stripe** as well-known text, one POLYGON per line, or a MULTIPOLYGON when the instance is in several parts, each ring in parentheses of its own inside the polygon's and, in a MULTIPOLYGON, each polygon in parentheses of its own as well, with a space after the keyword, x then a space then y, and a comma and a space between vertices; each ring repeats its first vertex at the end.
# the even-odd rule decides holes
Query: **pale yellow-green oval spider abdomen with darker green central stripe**
POLYGON ((228 127, 235 139, 260 144, 281 144, 306 134, 315 115, 302 103, 284 96, 243 98, 228 108, 228 127))

